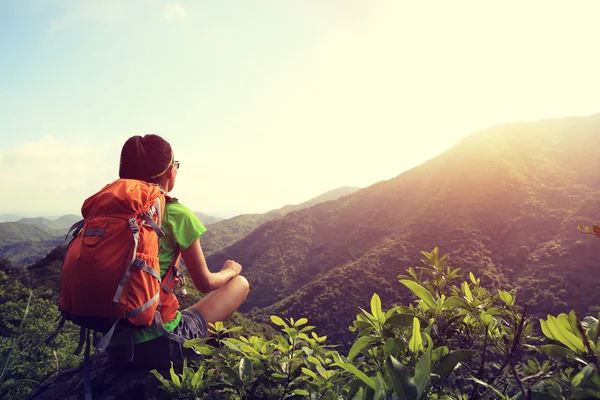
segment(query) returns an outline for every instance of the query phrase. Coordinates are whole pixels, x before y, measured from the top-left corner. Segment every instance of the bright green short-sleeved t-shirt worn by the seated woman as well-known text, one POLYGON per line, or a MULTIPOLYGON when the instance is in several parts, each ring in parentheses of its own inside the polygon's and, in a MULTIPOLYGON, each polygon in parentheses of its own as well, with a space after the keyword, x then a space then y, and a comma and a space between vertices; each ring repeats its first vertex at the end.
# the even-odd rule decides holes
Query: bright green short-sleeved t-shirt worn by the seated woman
MULTIPOLYGON (((158 260, 160 262, 160 276, 163 278, 167 274, 177 250, 185 250, 190 247, 196 239, 206 232, 206 228, 189 208, 177 201, 167 202, 165 205, 161 228, 165 232, 165 236, 159 241, 158 260)), ((171 332, 180 320, 181 313, 177 311, 177 316, 172 321, 165 322, 163 326, 168 332, 171 332)), ((141 328, 133 332, 133 342, 147 342, 160 335, 160 331, 154 326, 141 328)), ((128 338, 123 337, 118 332, 115 332, 111 339, 112 345, 127 342, 128 338)))

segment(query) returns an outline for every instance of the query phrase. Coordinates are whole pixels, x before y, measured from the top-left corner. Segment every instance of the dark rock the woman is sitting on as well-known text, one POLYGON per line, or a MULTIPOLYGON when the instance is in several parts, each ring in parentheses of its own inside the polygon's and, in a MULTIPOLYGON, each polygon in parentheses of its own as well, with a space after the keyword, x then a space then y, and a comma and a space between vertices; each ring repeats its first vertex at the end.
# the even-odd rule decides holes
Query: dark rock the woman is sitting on
MULTIPOLYGON (((142 400, 165 398, 160 382, 150 374, 151 368, 109 361, 104 353, 90 356, 90 378, 93 400, 142 400)), ((159 370, 168 376, 168 370, 159 370)), ((76 400, 84 398, 83 363, 45 382, 29 399, 76 400)))

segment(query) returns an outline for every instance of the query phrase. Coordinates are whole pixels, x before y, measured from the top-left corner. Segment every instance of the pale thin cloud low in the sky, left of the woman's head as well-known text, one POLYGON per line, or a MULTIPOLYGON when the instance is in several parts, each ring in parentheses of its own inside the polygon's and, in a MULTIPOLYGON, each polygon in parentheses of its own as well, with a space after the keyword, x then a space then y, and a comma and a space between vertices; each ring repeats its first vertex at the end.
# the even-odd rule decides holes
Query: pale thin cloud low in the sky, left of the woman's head
POLYGON ((0 212, 75 213, 85 198, 116 179, 119 145, 79 145, 52 135, 0 150, 0 212))

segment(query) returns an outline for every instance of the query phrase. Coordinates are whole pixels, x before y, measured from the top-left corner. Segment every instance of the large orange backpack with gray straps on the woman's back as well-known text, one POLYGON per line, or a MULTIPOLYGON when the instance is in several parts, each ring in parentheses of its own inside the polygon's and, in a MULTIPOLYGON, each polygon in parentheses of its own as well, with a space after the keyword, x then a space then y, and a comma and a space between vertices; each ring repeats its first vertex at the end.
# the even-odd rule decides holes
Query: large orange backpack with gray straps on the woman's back
POLYGON ((158 185, 118 179, 85 200, 84 219, 67 234, 71 241, 60 275, 60 309, 82 328, 106 333, 97 345, 100 351, 118 322, 124 328, 154 324, 181 342, 162 328, 163 317, 172 319, 179 305, 173 294, 179 257, 164 281, 158 261, 168 199, 158 185), (161 316, 159 305, 168 316, 161 316))

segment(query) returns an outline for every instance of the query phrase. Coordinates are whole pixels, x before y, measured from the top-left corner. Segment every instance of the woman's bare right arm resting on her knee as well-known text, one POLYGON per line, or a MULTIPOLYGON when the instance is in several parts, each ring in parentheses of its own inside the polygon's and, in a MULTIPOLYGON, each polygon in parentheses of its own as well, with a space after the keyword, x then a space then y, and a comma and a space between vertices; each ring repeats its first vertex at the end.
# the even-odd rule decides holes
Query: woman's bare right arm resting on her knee
POLYGON ((182 250, 181 256, 185 261, 194 286, 202 293, 212 292, 220 288, 242 271, 240 264, 227 260, 219 272, 210 272, 200 246, 200 239, 194 240, 190 247, 182 250))

